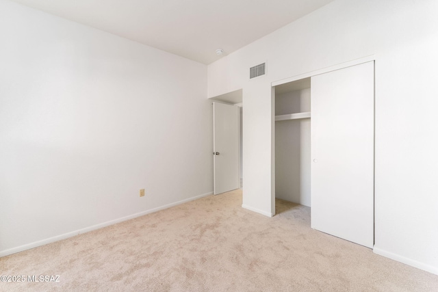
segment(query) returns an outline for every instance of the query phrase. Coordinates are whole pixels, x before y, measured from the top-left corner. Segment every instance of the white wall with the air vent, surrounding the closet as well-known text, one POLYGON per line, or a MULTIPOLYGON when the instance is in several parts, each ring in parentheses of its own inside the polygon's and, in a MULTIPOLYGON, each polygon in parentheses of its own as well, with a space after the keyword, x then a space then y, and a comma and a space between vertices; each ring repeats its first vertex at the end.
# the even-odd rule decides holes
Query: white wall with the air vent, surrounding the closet
POLYGON ((243 88, 245 207, 273 211, 270 83, 374 54, 374 252, 438 274, 437 11, 435 0, 337 0, 209 65, 209 96, 243 88), (264 61, 268 75, 248 80, 264 61))

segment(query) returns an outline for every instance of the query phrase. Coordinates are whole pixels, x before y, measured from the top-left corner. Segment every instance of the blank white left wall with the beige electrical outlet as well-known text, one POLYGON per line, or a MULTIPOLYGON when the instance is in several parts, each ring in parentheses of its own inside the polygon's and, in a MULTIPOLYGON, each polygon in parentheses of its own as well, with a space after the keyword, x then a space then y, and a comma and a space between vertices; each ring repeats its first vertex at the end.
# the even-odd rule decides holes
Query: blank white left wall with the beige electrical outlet
POLYGON ((211 193, 207 66, 5 0, 0 38, 0 256, 211 193))

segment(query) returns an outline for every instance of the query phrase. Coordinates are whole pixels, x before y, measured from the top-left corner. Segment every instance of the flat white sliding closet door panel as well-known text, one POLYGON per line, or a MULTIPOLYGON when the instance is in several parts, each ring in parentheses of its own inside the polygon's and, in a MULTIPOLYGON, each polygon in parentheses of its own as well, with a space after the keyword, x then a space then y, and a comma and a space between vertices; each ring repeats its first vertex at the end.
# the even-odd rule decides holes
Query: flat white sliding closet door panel
POLYGON ((374 62, 311 77, 311 226, 374 244, 374 62))

